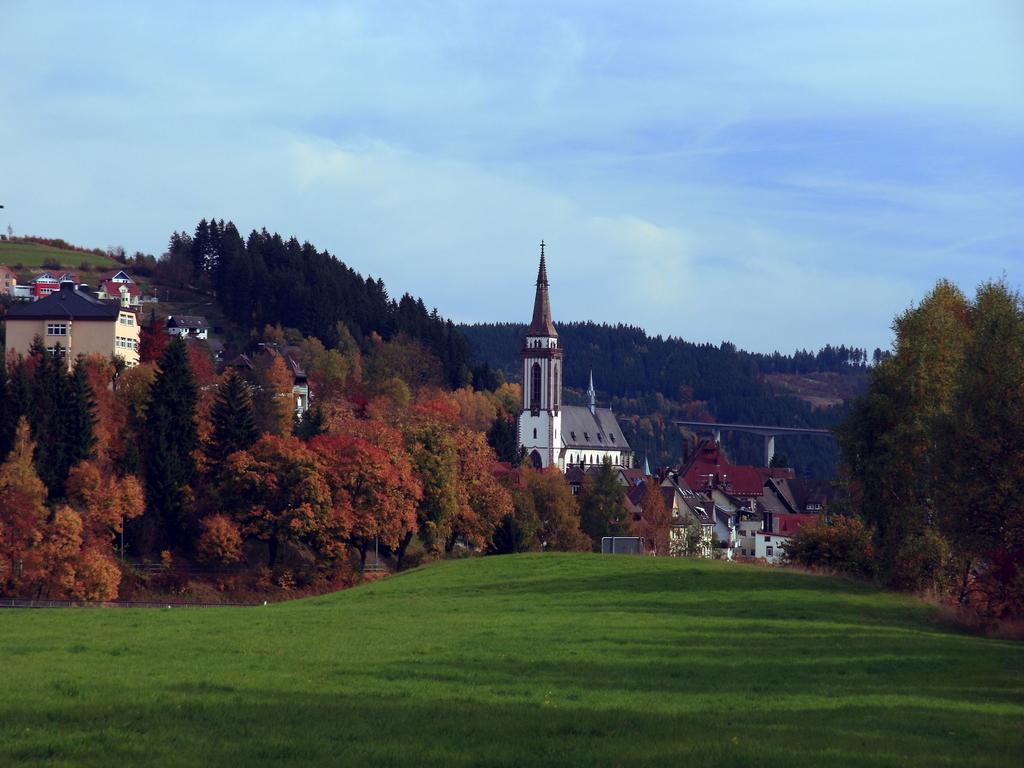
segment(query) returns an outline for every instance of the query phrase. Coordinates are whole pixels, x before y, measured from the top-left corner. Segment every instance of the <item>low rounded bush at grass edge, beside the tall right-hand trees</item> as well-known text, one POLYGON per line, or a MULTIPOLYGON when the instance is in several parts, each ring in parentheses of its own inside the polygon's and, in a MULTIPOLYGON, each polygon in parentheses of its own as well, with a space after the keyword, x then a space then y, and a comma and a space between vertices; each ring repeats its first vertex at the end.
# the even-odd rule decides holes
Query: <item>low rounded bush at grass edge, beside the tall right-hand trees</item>
POLYGON ((860 518, 837 516, 828 523, 802 527, 785 545, 785 560, 867 578, 874 572, 871 537, 860 518))

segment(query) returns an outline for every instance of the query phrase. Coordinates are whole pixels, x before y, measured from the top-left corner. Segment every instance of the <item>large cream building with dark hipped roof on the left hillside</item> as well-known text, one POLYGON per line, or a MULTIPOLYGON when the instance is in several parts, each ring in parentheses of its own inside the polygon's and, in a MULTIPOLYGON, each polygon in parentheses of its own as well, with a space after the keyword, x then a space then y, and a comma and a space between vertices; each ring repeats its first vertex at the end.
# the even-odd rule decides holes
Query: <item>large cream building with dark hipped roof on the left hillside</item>
POLYGON ((100 301, 70 281, 38 301, 15 304, 7 310, 5 351, 29 354, 38 337, 68 366, 83 354, 115 355, 128 367, 138 365, 138 312, 118 303, 100 301))

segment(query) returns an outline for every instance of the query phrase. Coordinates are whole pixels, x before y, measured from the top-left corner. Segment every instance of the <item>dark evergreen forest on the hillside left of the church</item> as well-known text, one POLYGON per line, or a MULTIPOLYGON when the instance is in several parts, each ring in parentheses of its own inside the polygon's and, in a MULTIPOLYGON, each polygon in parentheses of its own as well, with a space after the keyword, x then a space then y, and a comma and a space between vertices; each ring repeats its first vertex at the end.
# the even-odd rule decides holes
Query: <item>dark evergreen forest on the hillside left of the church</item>
POLYGON ((194 234, 171 236, 158 268, 172 285, 214 291, 244 328, 280 324, 329 346, 338 342, 339 324, 359 343, 373 333, 406 334, 437 356, 452 386, 472 381, 469 343, 451 321, 409 294, 390 298, 383 281, 364 278, 308 242, 266 229, 243 240, 230 221, 204 219, 194 234))

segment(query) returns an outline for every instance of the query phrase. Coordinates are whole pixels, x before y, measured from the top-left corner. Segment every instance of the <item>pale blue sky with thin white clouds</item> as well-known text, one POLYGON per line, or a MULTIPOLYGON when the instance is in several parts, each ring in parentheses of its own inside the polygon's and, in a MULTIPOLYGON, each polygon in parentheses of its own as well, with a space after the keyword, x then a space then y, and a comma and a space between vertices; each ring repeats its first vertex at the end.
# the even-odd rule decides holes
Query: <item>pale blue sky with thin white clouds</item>
POLYGON ((308 240, 457 322, 888 348, 1024 282, 1024 2, 0 0, 0 227, 308 240))

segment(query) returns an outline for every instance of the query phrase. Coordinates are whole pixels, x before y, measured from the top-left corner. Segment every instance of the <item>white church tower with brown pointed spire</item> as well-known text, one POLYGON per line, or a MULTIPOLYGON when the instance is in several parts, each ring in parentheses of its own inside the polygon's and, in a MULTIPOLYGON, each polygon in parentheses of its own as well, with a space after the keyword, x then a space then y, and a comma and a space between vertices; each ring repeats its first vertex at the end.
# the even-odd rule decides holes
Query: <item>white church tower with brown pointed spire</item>
MULTIPOLYGON (((551 322, 548 268, 541 241, 541 266, 537 272, 534 319, 526 329, 522 360, 522 411, 519 444, 535 467, 559 466, 561 446, 562 348, 551 322)), ((559 467, 560 468, 560 467, 559 467)))

